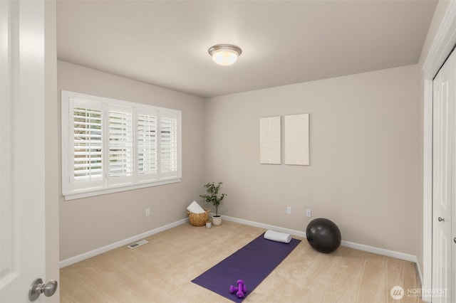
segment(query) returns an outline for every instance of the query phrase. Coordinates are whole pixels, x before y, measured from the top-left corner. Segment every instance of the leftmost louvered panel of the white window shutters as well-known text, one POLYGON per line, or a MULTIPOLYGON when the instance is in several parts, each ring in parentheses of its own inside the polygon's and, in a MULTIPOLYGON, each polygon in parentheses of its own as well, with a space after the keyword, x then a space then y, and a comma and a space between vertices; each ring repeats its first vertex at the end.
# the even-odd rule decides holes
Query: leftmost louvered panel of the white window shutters
POLYGON ((103 184, 103 119, 101 106, 83 99, 73 103, 73 188, 93 188, 103 184))

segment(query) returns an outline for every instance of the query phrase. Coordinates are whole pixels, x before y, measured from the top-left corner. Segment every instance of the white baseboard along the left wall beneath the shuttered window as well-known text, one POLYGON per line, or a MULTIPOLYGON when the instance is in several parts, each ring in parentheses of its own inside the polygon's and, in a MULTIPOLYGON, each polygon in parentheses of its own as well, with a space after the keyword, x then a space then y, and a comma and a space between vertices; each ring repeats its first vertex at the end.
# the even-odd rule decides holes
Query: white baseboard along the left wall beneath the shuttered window
POLYGON ((174 223, 163 225, 163 226, 160 226, 159 228, 155 228, 155 229, 146 231, 145 233, 140 233, 139 235, 134 235, 133 237, 130 237, 130 238, 127 238, 127 239, 124 239, 124 240, 120 240, 120 241, 118 241, 116 243, 113 243, 113 244, 110 244, 110 245, 103 246, 103 248, 97 248, 95 250, 90 250, 90 252, 84 252, 81 255, 76 255, 75 257, 70 257, 70 258, 68 258, 66 260, 62 260, 62 261, 59 262, 60 268, 66 267, 68 265, 72 265, 72 264, 77 263, 77 262, 81 262, 83 260, 88 259, 89 257, 95 257, 95 255, 100 255, 103 252, 107 252, 107 251, 113 250, 115 248, 120 248, 123 245, 128 245, 128 244, 134 243, 134 242, 136 242, 138 240, 142 240, 144 238, 147 238, 150 235, 155 235, 156 233, 160 233, 162 231, 168 230, 170 228, 174 228, 174 227, 176 227, 178 225, 182 225, 182 224, 187 223, 187 222, 188 222, 188 218, 185 218, 185 219, 182 219, 182 220, 178 220, 178 221, 176 221, 174 223))

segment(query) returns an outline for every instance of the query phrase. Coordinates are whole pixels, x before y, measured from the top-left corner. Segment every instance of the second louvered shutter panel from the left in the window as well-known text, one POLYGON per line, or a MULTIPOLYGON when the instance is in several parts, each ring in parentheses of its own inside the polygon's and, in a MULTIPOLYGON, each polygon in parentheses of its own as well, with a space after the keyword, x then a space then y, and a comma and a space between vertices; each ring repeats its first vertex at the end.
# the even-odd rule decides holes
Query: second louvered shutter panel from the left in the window
POLYGON ((108 185, 131 182, 133 181, 131 107, 110 105, 108 119, 108 185))

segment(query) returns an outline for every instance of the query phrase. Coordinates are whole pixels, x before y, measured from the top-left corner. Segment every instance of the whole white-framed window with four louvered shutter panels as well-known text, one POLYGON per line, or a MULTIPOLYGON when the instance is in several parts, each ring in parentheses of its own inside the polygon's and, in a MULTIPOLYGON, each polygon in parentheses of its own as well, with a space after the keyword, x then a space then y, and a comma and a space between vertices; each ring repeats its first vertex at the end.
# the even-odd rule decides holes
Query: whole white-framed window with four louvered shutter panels
POLYGON ((180 181, 181 112, 62 91, 66 200, 180 181))

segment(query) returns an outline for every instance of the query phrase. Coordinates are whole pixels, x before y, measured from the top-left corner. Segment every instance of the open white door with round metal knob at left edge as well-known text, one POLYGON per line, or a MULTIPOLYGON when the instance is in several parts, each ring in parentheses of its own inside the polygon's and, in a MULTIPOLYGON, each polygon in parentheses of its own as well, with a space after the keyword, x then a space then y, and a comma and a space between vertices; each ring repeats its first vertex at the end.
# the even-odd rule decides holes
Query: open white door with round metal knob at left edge
POLYGON ((46 278, 44 38, 44 1, 0 1, 1 303, 46 278))

